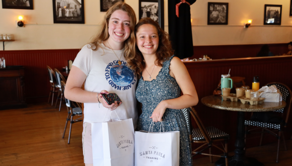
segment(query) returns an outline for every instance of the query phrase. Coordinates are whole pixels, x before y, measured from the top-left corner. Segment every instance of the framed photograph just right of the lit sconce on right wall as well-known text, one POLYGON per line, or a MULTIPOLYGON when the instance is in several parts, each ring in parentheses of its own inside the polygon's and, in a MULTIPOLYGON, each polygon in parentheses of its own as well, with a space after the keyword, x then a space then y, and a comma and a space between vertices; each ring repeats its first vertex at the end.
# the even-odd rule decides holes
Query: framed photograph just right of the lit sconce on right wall
POLYGON ((265 4, 264 25, 281 25, 282 5, 265 4))

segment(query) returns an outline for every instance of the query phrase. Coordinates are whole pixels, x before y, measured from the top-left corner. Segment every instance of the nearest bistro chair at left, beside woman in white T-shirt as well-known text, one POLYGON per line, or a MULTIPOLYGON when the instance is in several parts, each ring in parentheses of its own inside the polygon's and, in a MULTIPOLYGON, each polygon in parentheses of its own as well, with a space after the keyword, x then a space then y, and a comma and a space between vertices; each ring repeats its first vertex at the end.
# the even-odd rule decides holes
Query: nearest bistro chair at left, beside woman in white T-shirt
MULTIPOLYGON (((65 86, 66 86, 66 83, 64 81, 61 81, 62 91, 65 90, 65 86)), ((81 107, 80 103, 72 102, 71 100, 68 100, 66 98, 65 98, 65 101, 66 101, 66 106, 67 106, 67 110, 68 110, 68 116, 67 116, 67 119, 66 119, 65 129, 64 129, 62 138, 64 138, 64 136, 65 136, 67 124, 68 124, 68 121, 70 121, 70 130, 69 130, 69 138, 68 138, 68 144, 70 144, 70 136, 71 136, 72 124, 82 121, 82 120, 79 120, 82 117, 81 118, 77 118, 75 120, 73 120, 73 117, 74 116, 82 116, 82 109, 81 109, 82 107, 81 107)))

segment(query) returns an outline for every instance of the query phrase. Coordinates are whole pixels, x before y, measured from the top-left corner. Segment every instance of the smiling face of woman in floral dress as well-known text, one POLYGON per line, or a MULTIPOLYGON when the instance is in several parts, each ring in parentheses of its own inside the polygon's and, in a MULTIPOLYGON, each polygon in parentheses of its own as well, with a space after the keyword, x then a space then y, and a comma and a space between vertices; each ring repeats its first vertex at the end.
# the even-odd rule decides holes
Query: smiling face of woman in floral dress
POLYGON ((156 55, 159 37, 157 29, 151 24, 141 25, 136 33, 136 44, 143 55, 156 55))

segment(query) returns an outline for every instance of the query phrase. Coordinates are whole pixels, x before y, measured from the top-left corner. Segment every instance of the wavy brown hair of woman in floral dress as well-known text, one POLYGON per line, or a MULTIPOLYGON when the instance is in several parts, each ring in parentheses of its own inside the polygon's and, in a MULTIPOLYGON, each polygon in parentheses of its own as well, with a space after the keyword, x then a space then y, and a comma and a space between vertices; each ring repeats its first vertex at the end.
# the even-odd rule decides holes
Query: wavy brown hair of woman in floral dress
MULTIPOLYGON (((139 27, 144 24, 153 25, 158 32, 158 48, 156 50, 156 60, 155 65, 162 66, 162 63, 168 60, 173 55, 173 50, 171 47, 171 42, 169 41, 169 36, 166 32, 164 32, 159 25, 153 21, 151 18, 142 18, 135 27, 135 37, 137 32, 139 31, 139 27)), ((134 54, 129 56, 127 61, 128 65, 132 70, 135 70, 138 76, 141 76, 142 71, 145 68, 145 61, 142 52, 139 50, 137 44, 135 46, 135 50, 133 50, 134 54), (135 53, 136 52, 136 53, 135 53)))

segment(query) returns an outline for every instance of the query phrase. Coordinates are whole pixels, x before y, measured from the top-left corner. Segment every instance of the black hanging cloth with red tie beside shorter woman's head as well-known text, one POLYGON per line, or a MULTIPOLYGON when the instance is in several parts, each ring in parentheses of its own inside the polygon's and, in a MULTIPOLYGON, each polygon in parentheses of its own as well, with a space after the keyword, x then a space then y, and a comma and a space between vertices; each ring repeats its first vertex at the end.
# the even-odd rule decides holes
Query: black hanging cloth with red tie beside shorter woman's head
POLYGON ((180 59, 191 57, 194 54, 190 5, 195 1, 168 0, 168 32, 174 55, 180 59), (176 6, 179 17, 176 15, 176 6))

